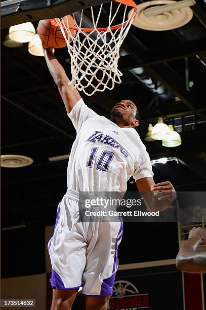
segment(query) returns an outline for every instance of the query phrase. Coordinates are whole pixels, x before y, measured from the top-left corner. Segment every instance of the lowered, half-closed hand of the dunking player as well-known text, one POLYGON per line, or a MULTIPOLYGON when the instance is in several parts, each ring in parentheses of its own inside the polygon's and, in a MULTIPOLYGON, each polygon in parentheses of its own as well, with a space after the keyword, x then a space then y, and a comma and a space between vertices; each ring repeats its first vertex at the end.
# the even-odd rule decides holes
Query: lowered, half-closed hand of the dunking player
POLYGON ((154 196, 159 201, 168 201, 172 203, 177 198, 175 188, 170 181, 151 185, 150 190, 154 192, 154 196))

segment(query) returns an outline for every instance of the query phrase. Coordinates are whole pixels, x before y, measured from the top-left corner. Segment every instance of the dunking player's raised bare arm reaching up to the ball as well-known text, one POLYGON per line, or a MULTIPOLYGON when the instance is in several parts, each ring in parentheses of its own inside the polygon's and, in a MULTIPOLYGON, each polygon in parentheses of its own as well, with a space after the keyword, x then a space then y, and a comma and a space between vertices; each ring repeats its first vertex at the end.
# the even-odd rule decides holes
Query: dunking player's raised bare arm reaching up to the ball
POLYGON ((68 79, 64 68, 54 56, 52 49, 45 49, 43 47, 43 51, 49 71, 54 79, 54 82, 58 86, 58 90, 64 102, 66 111, 67 113, 70 113, 76 102, 81 99, 81 96, 76 89, 72 89, 72 87, 68 85, 70 80, 68 79))

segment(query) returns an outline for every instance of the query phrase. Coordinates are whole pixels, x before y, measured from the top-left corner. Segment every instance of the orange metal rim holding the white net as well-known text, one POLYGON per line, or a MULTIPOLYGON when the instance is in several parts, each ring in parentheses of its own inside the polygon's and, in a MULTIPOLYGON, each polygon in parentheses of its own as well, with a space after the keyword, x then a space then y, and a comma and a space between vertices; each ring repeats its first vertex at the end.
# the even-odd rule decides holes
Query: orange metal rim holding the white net
MULTIPOLYGON (((121 24, 118 24, 118 25, 115 25, 115 26, 111 26, 110 29, 111 30, 116 30, 118 28, 121 28, 122 25, 125 26, 127 25, 127 23, 129 24, 131 22, 132 19, 135 18, 136 14, 137 14, 137 5, 132 1, 132 0, 114 0, 115 2, 118 2, 118 3, 121 3, 121 4, 124 4, 126 6, 129 6, 129 7, 134 7, 134 14, 127 20, 125 21, 124 23, 121 23, 121 24)), ((53 24, 54 26, 59 26, 59 23, 58 23, 58 18, 52 18, 50 19, 50 22, 51 24, 53 24)), ((61 21, 61 24, 62 26, 64 27, 62 21, 61 21)), ((66 25, 67 27, 69 27, 69 29, 72 29, 72 30, 76 30, 78 31, 79 29, 81 29, 82 31, 85 31, 85 32, 92 32, 94 30, 94 28, 78 28, 78 27, 75 27, 75 26, 68 26, 66 25)), ((99 31, 99 32, 104 32, 104 31, 107 31, 108 27, 105 27, 105 28, 97 28, 95 30, 96 31, 99 31)))

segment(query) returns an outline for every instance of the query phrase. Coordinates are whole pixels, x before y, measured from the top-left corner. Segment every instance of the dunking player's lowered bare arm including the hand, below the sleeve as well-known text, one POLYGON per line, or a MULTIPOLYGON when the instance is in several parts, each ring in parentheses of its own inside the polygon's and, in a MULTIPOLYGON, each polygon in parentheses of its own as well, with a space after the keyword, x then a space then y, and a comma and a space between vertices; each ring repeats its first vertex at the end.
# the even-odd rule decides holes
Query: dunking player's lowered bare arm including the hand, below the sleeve
POLYGON ((136 181, 149 211, 163 211, 176 199, 176 191, 170 181, 154 183, 153 178, 145 177, 136 181))

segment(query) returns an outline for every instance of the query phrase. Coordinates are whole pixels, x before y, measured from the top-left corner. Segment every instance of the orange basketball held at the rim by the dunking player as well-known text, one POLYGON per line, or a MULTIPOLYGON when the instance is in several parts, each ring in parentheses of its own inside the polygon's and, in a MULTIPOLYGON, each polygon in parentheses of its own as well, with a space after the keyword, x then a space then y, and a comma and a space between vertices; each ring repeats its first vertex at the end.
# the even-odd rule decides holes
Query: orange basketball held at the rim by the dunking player
MULTIPOLYGON (((67 26, 67 19, 69 25, 75 26, 75 22, 71 15, 64 16, 63 21, 67 26)), ((36 29, 40 39, 45 43, 46 48, 60 49, 66 46, 66 41, 61 32, 59 26, 55 26, 50 22, 50 19, 40 20, 36 29)), ((71 34, 75 36, 76 30, 70 29, 71 34)), ((68 32, 65 30, 66 38, 68 38, 68 32)), ((71 39, 70 39, 71 42, 71 39)))

